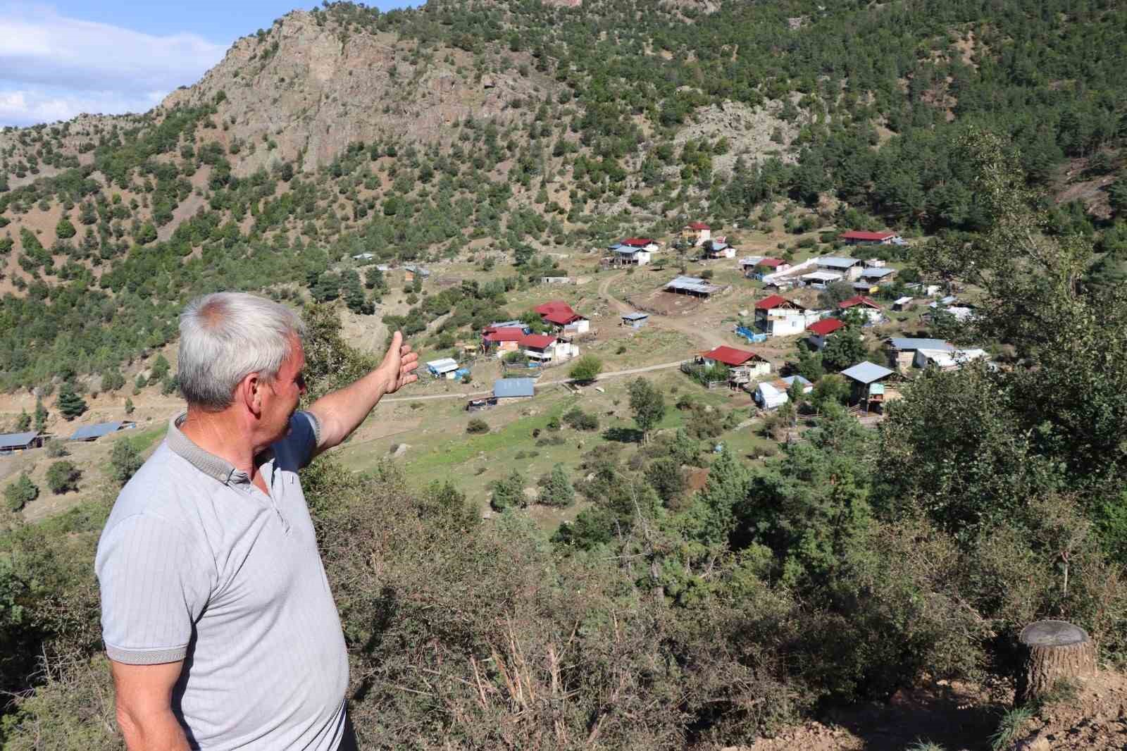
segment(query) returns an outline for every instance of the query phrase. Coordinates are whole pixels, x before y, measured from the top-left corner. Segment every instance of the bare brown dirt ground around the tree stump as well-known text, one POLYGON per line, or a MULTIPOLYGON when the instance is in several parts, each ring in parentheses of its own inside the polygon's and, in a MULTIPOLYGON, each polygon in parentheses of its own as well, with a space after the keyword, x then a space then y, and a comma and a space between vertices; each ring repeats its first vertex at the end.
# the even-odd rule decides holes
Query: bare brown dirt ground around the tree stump
MULTIPOLYGON (((944 751, 986 751, 1012 690, 934 681, 900 690, 887 703, 831 710, 822 722, 725 751, 905 751, 931 742, 944 751)), ((1102 671, 1076 696, 1044 707, 1004 751, 1127 749, 1127 677, 1102 671)))

